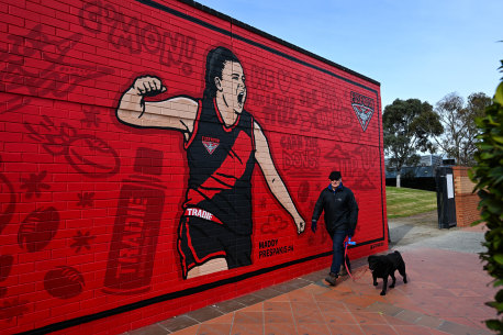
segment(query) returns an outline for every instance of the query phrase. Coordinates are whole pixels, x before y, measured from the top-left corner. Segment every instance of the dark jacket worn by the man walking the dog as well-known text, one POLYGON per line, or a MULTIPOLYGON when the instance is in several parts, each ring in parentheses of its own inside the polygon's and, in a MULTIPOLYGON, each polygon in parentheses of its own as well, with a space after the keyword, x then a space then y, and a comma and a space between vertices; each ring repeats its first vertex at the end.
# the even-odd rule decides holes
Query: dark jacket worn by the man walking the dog
POLYGON ((325 188, 314 205, 312 221, 317 222, 322 211, 325 211, 325 226, 331 236, 335 231, 355 231, 358 222, 358 204, 347 187, 340 185, 335 191, 331 186, 325 188))

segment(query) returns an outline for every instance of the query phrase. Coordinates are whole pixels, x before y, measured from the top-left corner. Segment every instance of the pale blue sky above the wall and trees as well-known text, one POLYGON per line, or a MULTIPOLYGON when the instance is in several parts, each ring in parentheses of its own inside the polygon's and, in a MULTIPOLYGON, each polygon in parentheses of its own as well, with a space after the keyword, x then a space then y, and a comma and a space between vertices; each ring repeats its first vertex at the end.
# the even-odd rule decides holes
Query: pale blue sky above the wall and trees
POLYGON ((198 0, 381 83, 381 103, 493 97, 503 0, 198 0))

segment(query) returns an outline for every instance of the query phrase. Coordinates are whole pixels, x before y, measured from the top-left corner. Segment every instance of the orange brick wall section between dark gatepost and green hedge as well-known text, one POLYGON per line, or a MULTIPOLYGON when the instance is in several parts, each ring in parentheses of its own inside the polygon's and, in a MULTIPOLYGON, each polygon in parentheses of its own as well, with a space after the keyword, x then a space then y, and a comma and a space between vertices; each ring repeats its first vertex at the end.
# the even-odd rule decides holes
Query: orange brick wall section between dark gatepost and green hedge
POLYGON ((469 226, 473 221, 480 219, 479 196, 472 193, 474 183, 468 177, 466 166, 452 167, 454 189, 456 201, 456 221, 458 226, 469 226))

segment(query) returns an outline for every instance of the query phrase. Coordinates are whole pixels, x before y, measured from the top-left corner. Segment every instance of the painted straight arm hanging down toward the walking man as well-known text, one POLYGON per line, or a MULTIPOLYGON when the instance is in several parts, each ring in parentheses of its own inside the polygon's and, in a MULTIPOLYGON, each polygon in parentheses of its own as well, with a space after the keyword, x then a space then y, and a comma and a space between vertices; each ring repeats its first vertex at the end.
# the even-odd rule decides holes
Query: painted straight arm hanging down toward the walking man
POLYGON ((256 122, 254 123, 254 136, 256 144, 255 157, 264 174, 264 177, 266 178, 267 185, 269 186, 272 196, 275 196, 279 203, 281 203, 281 205, 292 216, 297 226, 297 233, 300 234, 305 228, 305 221, 299 214, 299 211, 293 204, 292 198, 290 197, 290 193, 288 192, 283 180, 279 176, 278 170, 275 167, 275 163, 272 161, 266 135, 264 135, 262 130, 256 122))

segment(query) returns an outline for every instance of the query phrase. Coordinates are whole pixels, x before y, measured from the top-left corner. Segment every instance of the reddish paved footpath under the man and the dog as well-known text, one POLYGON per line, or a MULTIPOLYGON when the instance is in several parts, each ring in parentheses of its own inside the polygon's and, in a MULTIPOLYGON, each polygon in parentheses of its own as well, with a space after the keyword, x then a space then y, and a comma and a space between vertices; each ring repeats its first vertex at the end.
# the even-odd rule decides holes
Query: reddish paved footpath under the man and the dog
POLYGON ((401 252, 410 281, 396 272, 384 297, 382 280, 373 287, 366 259, 357 259, 355 280, 335 287, 325 269, 127 334, 494 334, 483 323, 496 317, 484 305, 496 292, 478 255, 484 227, 438 230, 436 211, 389 226, 390 250, 401 252))

